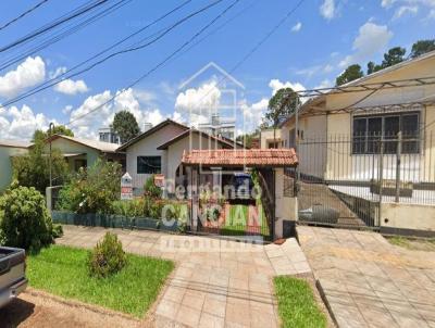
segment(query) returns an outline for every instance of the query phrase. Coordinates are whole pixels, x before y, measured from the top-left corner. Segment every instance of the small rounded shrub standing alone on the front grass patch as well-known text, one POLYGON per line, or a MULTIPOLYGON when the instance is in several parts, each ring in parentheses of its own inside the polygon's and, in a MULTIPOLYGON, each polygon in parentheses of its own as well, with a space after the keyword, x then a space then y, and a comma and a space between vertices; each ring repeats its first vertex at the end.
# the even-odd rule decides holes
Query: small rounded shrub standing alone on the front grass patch
POLYGON ((90 276, 104 278, 119 273, 127 263, 122 243, 117 236, 107 232, 89 253, 88 268, 90 276))

